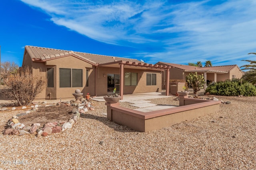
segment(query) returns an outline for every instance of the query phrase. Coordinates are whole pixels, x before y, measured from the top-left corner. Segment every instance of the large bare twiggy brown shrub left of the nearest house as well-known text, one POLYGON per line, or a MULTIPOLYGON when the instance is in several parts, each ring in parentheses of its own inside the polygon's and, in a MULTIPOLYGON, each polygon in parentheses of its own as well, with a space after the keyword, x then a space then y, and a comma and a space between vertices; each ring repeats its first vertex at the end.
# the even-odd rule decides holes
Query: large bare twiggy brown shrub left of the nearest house
POLYGON ((5 80, 6 90, 4 96, 10 98, 16 106, 30 106, 32 101, 46 86, 46 78, 32 75, 28 67, 20 68, 16 74, 5 80))

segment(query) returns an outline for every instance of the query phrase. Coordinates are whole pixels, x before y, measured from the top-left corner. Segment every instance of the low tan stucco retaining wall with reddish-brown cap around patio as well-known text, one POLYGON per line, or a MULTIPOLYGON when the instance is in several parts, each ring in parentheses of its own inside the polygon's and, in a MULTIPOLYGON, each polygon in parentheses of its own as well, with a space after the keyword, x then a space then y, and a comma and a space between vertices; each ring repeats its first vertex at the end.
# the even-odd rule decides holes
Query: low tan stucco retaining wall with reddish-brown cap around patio
POLYGON ((219 101, 193 99, 187 98, 187 96, 180 97, 179 107, 150 112, 125 108, 120 106, 119 103, 105 104, 107 106, 107 117, 110 121, 140 132, 170 127, 182 121, 214 113, 220 109, 219 101))

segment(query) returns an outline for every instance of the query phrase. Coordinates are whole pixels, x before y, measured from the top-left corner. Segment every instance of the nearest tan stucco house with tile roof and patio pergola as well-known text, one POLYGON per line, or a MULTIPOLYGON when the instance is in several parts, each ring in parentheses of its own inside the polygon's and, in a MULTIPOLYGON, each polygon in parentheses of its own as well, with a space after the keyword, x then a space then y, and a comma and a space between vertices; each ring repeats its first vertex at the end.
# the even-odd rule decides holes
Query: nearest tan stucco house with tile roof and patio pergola
MULTIPOLYGON (((162 72, 170 66, 147 64, 136 59, 95 55, 59 49, 26 46, 22 66, 32 68, 33 76, 48 79, 37 99, 74 98, 80 89, 84 96, 162 91, 162 72)), ((166 74, 166 77, 169 74, 166 74)), ((168 94, 168 91, 166 92, 168 94)))

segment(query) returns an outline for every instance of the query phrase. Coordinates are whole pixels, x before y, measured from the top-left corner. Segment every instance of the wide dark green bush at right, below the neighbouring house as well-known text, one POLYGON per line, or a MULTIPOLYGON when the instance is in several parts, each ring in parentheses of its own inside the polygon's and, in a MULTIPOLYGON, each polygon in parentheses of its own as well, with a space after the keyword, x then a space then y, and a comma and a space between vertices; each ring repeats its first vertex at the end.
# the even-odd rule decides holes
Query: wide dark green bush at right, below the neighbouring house
POLYGON ((256 96, 256 87, 251 83, 242 83, 240 79, 209 84, 205 92, 218 96, 256 96))

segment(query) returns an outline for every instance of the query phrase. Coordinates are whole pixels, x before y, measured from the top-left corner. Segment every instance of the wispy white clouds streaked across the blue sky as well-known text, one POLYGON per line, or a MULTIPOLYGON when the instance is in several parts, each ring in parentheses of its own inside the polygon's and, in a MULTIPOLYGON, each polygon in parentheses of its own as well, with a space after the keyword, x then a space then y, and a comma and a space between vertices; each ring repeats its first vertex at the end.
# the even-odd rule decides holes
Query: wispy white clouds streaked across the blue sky
POLYGON ((57 25, 104 43, 162 46, 160 51, 134 54, 151 63, 239 64, 256 50, 254 0, 22 2, 45 11, 57 25))

